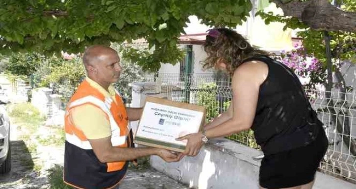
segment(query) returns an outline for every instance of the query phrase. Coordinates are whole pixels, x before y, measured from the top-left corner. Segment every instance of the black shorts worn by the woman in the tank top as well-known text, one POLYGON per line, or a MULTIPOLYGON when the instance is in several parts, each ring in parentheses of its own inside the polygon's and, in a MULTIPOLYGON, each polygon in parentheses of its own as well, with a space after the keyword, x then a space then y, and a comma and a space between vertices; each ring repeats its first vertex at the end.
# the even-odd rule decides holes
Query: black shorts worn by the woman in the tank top
POLYGON ((316 140, 277 154, 266 155, 259 169, 259 185, 266 189, 280 189, 307 184, 328 149, 328 139, 321 128, 316 140))

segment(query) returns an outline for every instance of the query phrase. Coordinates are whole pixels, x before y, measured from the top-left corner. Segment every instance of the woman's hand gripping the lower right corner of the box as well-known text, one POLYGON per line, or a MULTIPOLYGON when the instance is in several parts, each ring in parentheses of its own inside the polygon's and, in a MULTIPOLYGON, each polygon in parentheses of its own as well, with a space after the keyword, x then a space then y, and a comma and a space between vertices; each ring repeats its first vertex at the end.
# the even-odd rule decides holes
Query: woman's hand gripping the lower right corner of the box
POLYGON ((182 137, 177 138, 176 140, 188 140, 185 147, 184 154, 187 156, 196 156, 199 153, 200 148, 203 146, 202 133, 192 133, 182 137))

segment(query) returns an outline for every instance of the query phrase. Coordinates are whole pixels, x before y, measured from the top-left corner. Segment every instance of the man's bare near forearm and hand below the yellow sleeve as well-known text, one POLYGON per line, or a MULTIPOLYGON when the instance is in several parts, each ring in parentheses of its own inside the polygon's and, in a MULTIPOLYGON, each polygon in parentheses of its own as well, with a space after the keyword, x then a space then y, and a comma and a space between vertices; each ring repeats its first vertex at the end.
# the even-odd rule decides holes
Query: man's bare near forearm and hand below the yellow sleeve
POLYGON ((158 155, 166 162, 177 162, 182 158, 182 154, 174 154, 169 150, 159 148, 113 147, 110 137, 88 139, 88 141, 93 147, 95 155, 102 163, 129 161, 150 155, 158 155))

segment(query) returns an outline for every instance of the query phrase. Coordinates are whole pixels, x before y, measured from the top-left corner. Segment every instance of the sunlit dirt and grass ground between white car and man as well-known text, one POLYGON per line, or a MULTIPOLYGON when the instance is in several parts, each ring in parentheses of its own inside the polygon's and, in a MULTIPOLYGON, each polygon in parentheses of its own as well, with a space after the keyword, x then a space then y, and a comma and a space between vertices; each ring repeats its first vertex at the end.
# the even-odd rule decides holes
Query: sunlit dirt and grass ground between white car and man
POLYGON ((44 119, 33 121, 33 116, 31 122, 10 119, 11 171, 0 175, 0 189, 49 189, 48 169, 64 161, 62 128, 44 126, 44 119))

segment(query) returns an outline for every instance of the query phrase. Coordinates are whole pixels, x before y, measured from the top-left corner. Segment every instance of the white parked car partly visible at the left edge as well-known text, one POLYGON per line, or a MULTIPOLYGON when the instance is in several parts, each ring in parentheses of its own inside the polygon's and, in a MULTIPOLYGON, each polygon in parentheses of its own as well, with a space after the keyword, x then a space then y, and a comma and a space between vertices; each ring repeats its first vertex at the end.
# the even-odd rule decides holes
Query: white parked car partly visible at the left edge
POLYGON ((0 101, 0 174, 11 170, 10 121, 5 104, 0 101))

